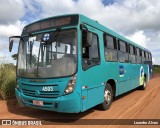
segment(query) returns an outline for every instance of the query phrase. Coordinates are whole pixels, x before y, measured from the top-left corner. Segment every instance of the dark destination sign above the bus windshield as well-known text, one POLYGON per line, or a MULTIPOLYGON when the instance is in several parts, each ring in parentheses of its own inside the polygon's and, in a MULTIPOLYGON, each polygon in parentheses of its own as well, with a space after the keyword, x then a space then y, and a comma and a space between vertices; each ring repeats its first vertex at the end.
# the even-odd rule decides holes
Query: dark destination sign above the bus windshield
POLYGON ((75 26, 78 24, 78 17, 79 17, 78 15, 68 15, 68 16, 53 17, 42 21, 37 21, 31 25, 24 27, 22 35, 45 29, 75 26))

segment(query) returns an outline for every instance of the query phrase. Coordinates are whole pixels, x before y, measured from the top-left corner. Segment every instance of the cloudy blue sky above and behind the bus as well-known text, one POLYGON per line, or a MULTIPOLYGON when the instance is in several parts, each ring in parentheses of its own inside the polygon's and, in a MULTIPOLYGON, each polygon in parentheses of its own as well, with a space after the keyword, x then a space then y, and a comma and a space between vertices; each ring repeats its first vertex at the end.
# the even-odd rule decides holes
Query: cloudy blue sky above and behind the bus
POLYGON ((15 63, 8 52, 9 36, 42 18, 80 13, 152 52, 160 65, 159 0, 0 0, 0 63, 15 63))

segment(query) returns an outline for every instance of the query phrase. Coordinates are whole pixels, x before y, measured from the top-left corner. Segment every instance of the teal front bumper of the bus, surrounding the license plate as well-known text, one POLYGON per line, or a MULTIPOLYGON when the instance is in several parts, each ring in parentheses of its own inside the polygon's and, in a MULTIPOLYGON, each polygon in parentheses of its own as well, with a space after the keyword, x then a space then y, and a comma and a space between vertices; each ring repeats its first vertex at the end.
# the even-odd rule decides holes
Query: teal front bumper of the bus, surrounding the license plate
POLYGON ((78 113, 81 111, 80 96, 76 92, 57 98, 39 98, 26 96, 17 88, 15 89, 15 93, 20 106, 65 113, 78 113), (43 102, 43 105, 34 105, 33 101, 41 101, 43 102))

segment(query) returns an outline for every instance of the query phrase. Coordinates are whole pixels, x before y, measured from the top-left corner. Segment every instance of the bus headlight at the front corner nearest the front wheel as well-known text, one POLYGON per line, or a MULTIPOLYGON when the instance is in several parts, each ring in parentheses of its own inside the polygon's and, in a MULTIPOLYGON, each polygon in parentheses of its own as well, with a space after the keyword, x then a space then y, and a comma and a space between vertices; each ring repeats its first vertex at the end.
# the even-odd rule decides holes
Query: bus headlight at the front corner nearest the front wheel
POLYGON ((71 80, 68 82, 67 87, 64 90, 64 94, 70 94, 74 91, 76 86, 76 77, 72 77, 71 80))

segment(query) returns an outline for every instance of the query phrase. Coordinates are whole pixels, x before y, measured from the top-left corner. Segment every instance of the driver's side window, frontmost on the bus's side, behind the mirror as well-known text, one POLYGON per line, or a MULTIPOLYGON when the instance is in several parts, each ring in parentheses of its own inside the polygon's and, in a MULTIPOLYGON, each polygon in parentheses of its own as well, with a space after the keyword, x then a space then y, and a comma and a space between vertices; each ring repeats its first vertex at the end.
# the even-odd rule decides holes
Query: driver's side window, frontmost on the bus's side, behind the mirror
POLYGON ((82 31, 82 65, 84 70, 100 63, 98 36, 93 33, 91 46, 86 45, 86 37, 87 32, 82 31))

